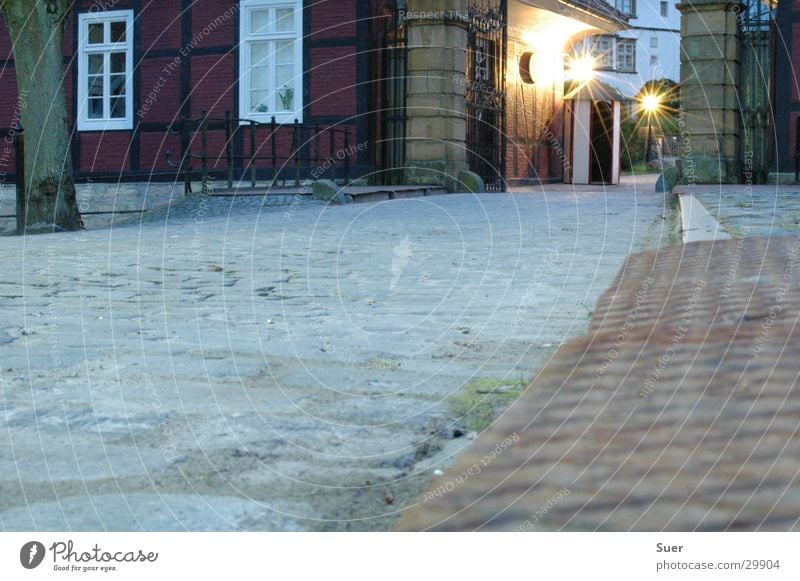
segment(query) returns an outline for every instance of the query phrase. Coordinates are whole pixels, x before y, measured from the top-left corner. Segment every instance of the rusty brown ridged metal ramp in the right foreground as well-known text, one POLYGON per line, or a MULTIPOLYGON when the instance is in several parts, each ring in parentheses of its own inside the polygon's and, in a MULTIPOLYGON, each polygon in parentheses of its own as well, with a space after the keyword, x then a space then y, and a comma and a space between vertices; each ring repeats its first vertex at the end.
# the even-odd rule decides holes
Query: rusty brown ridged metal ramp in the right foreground
POLYGON ((400 530, 800 529, 800 238, 631 256, 400 530))

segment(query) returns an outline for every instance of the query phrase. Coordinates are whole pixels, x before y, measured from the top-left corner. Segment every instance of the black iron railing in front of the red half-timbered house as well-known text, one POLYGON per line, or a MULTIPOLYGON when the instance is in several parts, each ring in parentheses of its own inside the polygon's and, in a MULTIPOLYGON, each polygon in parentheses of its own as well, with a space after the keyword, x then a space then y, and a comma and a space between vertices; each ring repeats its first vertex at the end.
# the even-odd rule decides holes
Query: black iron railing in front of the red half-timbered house
POLYGON ((301 179, 322 175, 332 179, 338 176, 346 182, 350 179, 351 158, 359 150, 351 141, 350 127, 308 125, 296 119, 294 123, 282 124, 274 116, 270 122, 262 123, 233 118, 229 111, 223 118, 209 117, 203 111, 200 117, 171 125, 169 131, 181 136, 179 161, 172 161, 171 151, 166 152, 166 158, 182 176, 186 194, 192 192, 192 181, 198 171, 203 191, 207 191, 211 173, 219 172, 220 167, 224 168, 229 189, 234 181, 247 175, 252 188, 256 187, 259 175, 271 186, 294 181, 295 187, 299 187, 301 179), (224 132, 224 145, 216 151, 209 146, 211 132, 224 132), (248 152, 237 153, 237 143, 242 150, 246 144, 248 152), (199 162, 199 168, 195 162, 199 162))

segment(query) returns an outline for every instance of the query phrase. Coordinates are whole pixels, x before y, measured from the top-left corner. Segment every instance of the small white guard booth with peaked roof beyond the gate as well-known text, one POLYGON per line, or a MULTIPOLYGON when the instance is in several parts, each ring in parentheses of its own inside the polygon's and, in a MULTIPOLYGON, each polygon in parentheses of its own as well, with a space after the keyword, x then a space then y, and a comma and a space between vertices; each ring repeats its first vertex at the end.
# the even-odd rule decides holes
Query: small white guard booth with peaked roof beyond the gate
POLYGON ((564 140, 568 184, 618 184, 620 101, 615 88, 598 81, 565 90, 564 140))

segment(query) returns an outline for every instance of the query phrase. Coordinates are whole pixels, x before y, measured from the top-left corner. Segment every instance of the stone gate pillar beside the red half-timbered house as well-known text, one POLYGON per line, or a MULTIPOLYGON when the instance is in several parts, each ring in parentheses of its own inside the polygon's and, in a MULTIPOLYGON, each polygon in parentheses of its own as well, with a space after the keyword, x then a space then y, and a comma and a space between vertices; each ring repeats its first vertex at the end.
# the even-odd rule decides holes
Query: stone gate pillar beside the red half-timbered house
POLYGON ((467 0, 408 2, 407 183, 452 188, 467 168, 466 14, 467 0))

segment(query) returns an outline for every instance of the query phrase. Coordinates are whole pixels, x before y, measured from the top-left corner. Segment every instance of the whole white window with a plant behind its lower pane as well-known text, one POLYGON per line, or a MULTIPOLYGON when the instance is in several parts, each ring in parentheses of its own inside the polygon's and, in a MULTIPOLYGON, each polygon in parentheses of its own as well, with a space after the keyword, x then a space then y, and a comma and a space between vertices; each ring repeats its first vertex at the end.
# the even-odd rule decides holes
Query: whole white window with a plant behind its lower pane
POLYGON ((302 121, 302 0, 244 0, 240 19, 240 116, 302 121))

